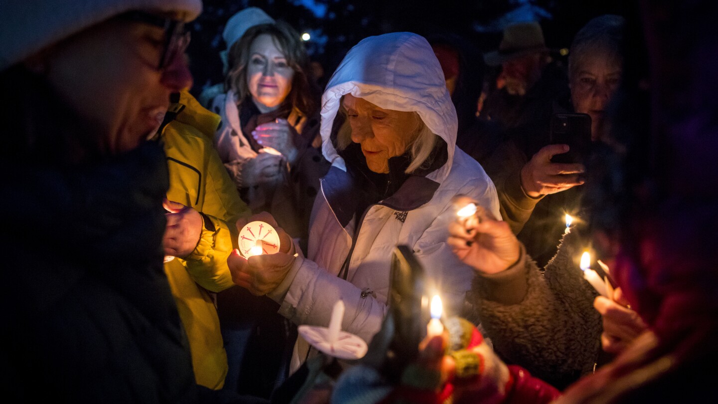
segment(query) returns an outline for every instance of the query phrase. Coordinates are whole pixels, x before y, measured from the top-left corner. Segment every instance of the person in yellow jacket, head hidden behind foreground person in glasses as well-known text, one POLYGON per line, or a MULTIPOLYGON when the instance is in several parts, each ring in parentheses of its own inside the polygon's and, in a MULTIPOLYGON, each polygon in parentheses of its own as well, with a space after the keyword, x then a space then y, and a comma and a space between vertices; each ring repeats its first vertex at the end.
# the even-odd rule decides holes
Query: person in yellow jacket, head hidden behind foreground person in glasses
POLYGON ((159 131, 169 168, 164 272, 189 339, 197 384, 218 390, 228 365, 213 293, 234 285, 227 257, 237 247, 235 222, 250 211, 213 147, 220 116, 187 91, 172 101, 177 102, 164 122, 174 119, 159 131))

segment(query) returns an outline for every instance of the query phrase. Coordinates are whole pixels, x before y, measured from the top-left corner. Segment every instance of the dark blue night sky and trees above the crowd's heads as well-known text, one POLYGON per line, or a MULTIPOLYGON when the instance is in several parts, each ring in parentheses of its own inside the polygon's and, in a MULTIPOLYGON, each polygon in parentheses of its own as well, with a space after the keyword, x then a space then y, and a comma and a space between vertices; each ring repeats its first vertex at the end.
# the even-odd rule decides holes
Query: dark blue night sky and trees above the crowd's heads
POLYGON ((475 58, 493 50, 505 22, 538 19, 546 45, 569 47, 574 34, 600 14, 632 17, 630 0, 204 0, 202 15, 192 24, 188 50, 197 95, 208 83, 222 81, 218 52, 225 48, 221 33, 227 20, 247 6, 258 6, 284 19, 298 32, 310 32, 306 43, 312 60, 320 62, 327 79, 345 53, 359 40, 386 32, 410 31, 431 37, 460 36, 475 58), (307 5, 309 7, 307 7, 307 5))

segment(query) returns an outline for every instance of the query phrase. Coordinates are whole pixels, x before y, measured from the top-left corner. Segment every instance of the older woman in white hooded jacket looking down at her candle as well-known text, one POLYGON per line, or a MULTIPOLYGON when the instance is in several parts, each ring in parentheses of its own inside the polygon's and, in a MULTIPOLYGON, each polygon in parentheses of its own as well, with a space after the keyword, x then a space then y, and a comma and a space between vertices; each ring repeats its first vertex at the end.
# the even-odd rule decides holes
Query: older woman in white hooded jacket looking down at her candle
MULTIPOLYGON (((297 324, 327 326, 342 299, 342 329, 370 341, 387 311, 393 248, 404 244, 447 313, 458 313, 472 269, 447 244, 452 198, 500 214, 491 180, 455 147, 456 111, 424 37, 396 32, 353 47, 322 96, 320 132, 332 167, 314 202, 307 258, 235 252, 235 283, 269 295, 297 324)), ((292 370, 309 351, 300 338, 292 370)))

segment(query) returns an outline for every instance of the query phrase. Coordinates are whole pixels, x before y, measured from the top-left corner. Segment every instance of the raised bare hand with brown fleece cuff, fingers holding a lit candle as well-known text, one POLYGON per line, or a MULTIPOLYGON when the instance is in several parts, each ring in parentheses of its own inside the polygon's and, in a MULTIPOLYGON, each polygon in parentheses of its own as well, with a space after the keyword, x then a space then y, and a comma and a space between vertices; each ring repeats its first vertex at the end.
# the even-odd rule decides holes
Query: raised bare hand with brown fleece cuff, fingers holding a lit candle
MULTIPOLYGON (((462 196, 454 204, 466 206, 470 202, 462 196)), ((448 242, 462 262, 485 274, 507 270, 521 255, 521 245, 508 224, 481 206, 474 216, 449 224, 448 242)))

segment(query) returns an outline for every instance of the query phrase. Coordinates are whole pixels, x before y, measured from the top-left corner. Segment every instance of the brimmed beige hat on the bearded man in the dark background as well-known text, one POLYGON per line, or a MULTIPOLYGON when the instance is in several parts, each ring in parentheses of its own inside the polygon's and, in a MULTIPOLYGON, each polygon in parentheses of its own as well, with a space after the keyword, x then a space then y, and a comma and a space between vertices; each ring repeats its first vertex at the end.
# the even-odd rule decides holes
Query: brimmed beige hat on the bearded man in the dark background
POLYGON ((490 66, 498 66, 531 53, 549 51, 541 25, 538 22, 520 22, 503 30, 498 50, 485 53, 484 62, 490 66))

